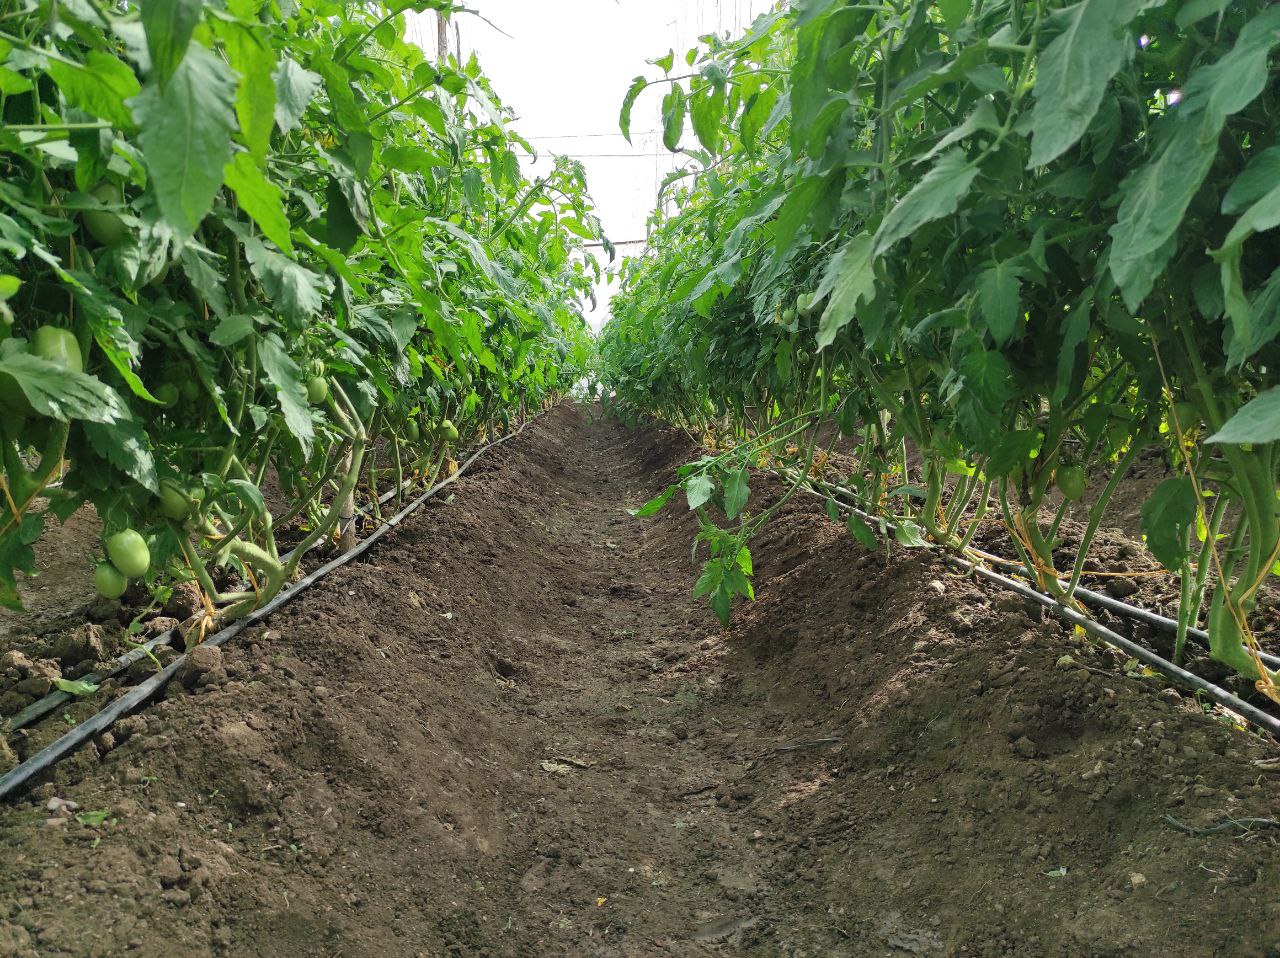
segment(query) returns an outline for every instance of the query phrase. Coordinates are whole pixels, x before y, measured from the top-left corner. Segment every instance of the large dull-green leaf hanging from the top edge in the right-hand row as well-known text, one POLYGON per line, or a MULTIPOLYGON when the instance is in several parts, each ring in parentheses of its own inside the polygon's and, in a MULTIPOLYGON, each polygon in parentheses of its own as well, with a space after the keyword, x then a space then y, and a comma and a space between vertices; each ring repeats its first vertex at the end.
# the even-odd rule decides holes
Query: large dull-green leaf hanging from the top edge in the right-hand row
POLYGON ((1051 17, 1061 33, 1037 63, 1029 168, 1052 163, 1084 136, 1107 85, 1132 56, 1125 27, 1162 1, 1083 0, 1051 17))

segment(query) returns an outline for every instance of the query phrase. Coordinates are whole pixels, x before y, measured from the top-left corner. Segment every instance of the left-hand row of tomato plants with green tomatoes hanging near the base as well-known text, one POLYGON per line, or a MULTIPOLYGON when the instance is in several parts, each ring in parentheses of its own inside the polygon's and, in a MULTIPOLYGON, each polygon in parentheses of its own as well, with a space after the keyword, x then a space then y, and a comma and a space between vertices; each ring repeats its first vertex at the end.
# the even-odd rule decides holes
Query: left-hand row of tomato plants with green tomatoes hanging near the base
POLYGON ((526 175, 476 61, 406 40, 424 12, 0 15, 0 605, 88 503, 104 596, 189 580, 229 621, 580 378, 584 172, 526 175))

